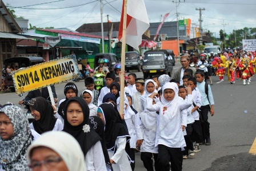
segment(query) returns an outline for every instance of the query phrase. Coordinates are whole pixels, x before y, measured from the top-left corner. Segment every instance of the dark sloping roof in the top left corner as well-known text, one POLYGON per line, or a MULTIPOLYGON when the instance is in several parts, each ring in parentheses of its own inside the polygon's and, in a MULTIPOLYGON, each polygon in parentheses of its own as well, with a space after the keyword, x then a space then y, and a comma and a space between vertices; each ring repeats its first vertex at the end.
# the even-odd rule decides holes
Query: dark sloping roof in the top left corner
POLYGON ((0 14, 3 15, 7 23, 11 26, 12 32, 22 32, 21 28, 19 27, 19 25, 17 24, 13 16, 11 16, 9 10, 6 8, 5 4, 1 0, 0 0, 0 14))

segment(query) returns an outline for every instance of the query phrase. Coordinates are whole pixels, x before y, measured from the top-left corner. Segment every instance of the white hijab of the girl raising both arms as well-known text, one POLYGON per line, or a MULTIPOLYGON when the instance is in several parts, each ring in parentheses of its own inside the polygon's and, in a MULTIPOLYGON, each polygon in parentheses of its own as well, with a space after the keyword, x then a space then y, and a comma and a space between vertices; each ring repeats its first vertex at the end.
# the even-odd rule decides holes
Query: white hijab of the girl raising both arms
POLYGON ((161 117, 163 117, 163 119, 161 119, 161 124, 159 124, 159 131, 162 131, 162 129, 165 128, 166 125, 170 123, 170 120, 177 115, 179 110, 179 103, 183 101, 182 97, 178 96, 179 88, 176 83, 166 83, 163 86, 163 92, 165 91, 165 89, 173 89, 175 96, 173 100, 168 101, 165 99, 162 93, 161 103, 163 105, 163 109, 166 108, 166 111, 165 111, 165 115, 163 115, 162 113, 163 109, 161 109, 160 115, 161 117))

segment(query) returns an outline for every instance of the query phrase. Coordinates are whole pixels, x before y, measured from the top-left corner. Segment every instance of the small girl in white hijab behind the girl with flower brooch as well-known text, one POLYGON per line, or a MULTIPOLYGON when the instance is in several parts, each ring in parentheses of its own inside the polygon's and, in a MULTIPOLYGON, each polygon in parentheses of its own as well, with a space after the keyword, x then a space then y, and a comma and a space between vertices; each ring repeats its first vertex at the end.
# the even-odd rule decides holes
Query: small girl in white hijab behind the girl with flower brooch
POLYGON ((93 99, 94 99, 93 92, 90 91, 89 89, 86 89, 85 91, 83 91, 81 93, 81 97, 88 104, 88 107, 90 109, 90 116, 97 116, 97 109, 98 109, 98 107, 93 104, 93 99))

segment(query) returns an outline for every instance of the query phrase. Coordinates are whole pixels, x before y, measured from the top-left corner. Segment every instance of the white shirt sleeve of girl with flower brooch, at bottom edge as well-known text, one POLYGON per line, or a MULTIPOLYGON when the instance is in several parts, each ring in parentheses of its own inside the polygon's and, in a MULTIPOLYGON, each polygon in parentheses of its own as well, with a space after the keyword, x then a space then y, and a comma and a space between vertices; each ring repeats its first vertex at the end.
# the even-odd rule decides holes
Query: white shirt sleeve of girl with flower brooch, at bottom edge
POLYGON ((99 158, 104 158, 101 141, 98 141, 91 149, 86 153, 85 163, 87 170, 91 171, 105 171, 107 170, 105 160, 99 160, 99 158))

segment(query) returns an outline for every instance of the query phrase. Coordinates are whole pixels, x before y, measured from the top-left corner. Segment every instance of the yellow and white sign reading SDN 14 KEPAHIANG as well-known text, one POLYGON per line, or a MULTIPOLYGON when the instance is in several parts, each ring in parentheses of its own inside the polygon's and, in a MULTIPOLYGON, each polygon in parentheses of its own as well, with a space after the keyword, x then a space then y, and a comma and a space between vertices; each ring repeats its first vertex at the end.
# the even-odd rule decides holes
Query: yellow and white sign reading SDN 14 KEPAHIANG
POLYGON ((16 93, 23 93, 78 78, 78 76, 75 55, 69 55, 16 70, 13 72, 13 82, 16 93))

